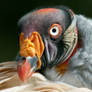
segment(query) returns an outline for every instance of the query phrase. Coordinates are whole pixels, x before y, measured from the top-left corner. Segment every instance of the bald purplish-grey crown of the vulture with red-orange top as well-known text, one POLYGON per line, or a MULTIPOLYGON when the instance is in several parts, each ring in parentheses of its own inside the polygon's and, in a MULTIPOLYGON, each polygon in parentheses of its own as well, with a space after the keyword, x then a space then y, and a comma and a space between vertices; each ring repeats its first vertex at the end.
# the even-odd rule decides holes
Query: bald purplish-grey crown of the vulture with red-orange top
POLYGON ((25 37, 31 32, 38 31, 39 33, 47 34, 49 27, 58 23, 66 30, 71 23, 69 13, 57 8, 43 8, 26 14, 19 21, 19 31, 24 32, 25 37))

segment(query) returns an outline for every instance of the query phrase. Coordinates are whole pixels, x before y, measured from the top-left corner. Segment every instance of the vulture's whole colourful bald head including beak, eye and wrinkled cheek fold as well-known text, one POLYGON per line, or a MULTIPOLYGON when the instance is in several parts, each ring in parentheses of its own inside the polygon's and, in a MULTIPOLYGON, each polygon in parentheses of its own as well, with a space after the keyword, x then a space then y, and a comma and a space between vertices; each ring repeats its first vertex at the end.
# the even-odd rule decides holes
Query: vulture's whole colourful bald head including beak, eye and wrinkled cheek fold
POLYGON ((77 46, 76 17, 68 8, 36 9, 19 20, 18 28, 17 69, 22 81, 66 62, 77 46))

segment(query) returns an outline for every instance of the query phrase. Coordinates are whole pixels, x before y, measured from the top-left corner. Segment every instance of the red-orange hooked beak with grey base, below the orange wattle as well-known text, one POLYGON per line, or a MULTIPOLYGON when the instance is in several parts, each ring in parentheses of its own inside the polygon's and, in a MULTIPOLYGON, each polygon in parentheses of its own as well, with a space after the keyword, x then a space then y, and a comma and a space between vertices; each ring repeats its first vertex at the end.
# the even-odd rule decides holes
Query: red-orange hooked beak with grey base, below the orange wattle
POLYGON ((20 61, 17 66, 18 75, 21 81, 25 82, 29 79, 37 69, 37 57, 26 57, 24 61, 20 61))

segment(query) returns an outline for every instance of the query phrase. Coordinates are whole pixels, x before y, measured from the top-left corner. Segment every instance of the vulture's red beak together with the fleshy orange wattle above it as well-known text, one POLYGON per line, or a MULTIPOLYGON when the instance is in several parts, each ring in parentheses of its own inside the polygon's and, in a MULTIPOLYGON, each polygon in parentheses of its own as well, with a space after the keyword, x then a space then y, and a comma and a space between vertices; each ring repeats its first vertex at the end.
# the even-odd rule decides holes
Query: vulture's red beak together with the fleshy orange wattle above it
POLYGON ((19 61, 17 71, 19 78, 24 82, 32 74, 41 68, 41 56, 44 51, 44 44, 38 32, 33 32, 30 37, 20 34, 20 55, 24 60, 19 61))

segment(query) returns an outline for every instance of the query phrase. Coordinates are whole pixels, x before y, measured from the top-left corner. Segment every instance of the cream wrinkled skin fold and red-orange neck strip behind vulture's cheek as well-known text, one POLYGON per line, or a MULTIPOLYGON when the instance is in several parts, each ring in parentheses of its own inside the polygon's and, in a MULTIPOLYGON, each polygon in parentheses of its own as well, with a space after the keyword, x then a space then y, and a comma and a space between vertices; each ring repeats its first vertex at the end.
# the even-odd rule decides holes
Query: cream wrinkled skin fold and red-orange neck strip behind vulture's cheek
POLYGON ((66 52, 66 53, 68 53, 67 57, 65 57, 66 54, 63 55, 63 60, 61 60, 62 63, 58 64, 56 66, 56 70, 59 72, 59 74, 64 74, 67 71, 70 58, 76 53, 77 49, 79 48, 78 29, 76 26, 76 17, 75 16, 74 16, 74 19, 73 19, 71 25, 64 33, 63 41, 65 42, 65 44, 67 44, 69 46, 69 48, 67 49, 67 52, 66 52), (70 43, 67 43, 69 41, 70 41, 70 43))

